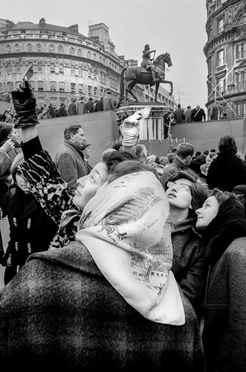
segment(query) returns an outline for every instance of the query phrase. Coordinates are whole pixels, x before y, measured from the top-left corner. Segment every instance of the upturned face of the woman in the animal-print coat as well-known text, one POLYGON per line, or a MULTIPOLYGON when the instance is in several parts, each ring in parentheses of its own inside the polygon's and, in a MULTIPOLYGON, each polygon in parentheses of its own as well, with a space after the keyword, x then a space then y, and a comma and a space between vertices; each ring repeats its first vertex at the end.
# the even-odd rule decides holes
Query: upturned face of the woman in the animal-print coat
POLYGON ((91 173, 77 180, 78 187, 75 190, 73 203, 83 209, 89 200, 96 194, 108 177, 106 164, 101 161, 96 164, 91 173))

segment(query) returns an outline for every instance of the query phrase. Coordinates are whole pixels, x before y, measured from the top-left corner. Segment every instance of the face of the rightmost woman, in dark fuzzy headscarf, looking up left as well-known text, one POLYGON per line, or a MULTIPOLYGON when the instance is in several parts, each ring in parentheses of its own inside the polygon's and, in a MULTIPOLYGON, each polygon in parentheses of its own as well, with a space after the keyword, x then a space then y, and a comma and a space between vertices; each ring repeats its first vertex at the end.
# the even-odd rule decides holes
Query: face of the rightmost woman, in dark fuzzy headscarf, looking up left
POLYGON ((210 224, 212 219, 217 215, 219 203, 215 196, 210 196, 205 200, 203 206, 196 210, 197 222, 196 228, 204 230, 210 224))

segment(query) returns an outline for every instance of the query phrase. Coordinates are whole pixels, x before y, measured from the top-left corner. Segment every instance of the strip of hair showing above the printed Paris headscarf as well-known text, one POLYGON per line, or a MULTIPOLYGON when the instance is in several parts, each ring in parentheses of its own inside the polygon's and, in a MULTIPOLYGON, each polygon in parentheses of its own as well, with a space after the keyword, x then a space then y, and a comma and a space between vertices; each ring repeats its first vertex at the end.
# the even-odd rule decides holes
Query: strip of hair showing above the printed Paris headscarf
POLYGON ((111 172, 111 174, 108 177, 108 182, 113 182, 119 177, 125 176, 126 174, 134 173, 134 172, 151 172, 154 173, 158 180, 160 180, 160 177, 158 176, 157 171, 150 166, 149 164, 141 163, 138 160, 126 160, 122 163, 116 164, 114 167, 114 170, 111 172))

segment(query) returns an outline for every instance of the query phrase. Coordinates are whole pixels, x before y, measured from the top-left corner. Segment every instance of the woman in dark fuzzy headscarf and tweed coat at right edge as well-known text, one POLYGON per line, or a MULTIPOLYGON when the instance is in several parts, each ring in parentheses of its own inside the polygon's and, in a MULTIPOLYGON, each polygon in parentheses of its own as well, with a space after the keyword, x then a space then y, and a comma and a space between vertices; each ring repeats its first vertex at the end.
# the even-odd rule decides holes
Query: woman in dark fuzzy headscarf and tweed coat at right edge
POLYGON ((246 371, 246 221, 243 205, 213 189, 197 209, 208 244, 203 345, 210 371, 246 371))

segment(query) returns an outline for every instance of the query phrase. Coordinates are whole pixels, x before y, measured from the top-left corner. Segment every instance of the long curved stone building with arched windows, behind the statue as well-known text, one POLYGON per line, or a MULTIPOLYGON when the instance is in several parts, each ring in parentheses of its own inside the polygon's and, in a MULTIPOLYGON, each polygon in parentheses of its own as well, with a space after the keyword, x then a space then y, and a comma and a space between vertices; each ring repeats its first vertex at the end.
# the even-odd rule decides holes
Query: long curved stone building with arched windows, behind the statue
MULTIPOLYGON (((51 102, 68 107, 73 98, 99 99, 110 90, 118 102, 119 79, 128 65, 124 56, 115 53, 108 27, 104 23, 89 26, 88 36, 78 32, 78 25, 49 25, 41 18, 38 24, 0 20, 0 92, 11 91, 33 64, 31 81, 37 105, 51 102)), ((152 101, 152 88, 135 86, 141 102, 152 101)), ((174 106, 174 97, 160 87, 158 98, 174 106)))

